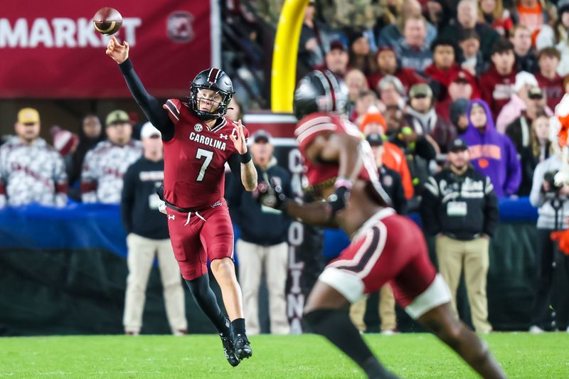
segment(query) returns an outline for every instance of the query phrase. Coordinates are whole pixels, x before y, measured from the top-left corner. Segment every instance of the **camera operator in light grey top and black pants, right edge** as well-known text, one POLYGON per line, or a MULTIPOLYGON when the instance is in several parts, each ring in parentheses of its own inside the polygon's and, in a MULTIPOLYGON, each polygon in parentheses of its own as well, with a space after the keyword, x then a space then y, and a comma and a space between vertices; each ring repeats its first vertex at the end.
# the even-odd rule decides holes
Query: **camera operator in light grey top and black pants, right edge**
MULTIPOLYGON (((538 282, 536 297, 533 301, 530 332, 541 333, 544 330, 555 330, 556 314, 549 304, 553 293, 553 276, 555 270, 565 269, 566 265, 558 265, 565 259, 551 240, 551 232, 568 228, 569 186, 555 186, 555 174, 561 169, 561 159, 555 154, 536 166, 533 173, 530 202, 538 208, 538 246, 537 269, 538 282)), ((558 272, 559 274, 559 272, 558 272)), ((567 273, 565 273, 565 276, 567 273)), ((563 292, 562 292, 563 293, 563 292)))

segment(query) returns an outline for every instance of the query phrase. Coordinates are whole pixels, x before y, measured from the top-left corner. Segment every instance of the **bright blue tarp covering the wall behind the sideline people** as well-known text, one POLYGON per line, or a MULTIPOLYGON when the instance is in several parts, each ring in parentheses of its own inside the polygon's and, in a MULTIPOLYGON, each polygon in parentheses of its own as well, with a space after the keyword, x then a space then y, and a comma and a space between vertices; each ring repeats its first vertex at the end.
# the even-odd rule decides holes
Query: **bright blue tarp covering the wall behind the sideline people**
MULTIPOLYGON (((502 222, 535 222, 528 198, 502 198, 502 222)), ((418 221, 417 215, 412 215, 418 221)), ((326 230, 324 255, 335 257, 348 245, 341 230, 326 230)), ((117 205, 71 203, 65 208, 26 205, 0 210, 0 248, 102 248, 125 256, 127 245, 117 205)))

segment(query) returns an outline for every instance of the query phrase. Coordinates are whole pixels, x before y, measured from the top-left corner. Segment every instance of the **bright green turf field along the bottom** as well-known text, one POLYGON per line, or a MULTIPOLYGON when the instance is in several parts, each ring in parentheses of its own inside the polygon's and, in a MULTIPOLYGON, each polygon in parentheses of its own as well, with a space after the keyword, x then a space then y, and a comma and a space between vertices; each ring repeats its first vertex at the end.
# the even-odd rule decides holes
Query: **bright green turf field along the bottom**
MULTIPOLYGON (((569 378, 569 333, 484 336, 511 378, 569 378)), ((366 335, 403 378, 476 378, 427 334, 366 335)), ((253 357, 231 368, 217 336, 0 338, 4 378, 363 378, 323 338, 254 336, 253 357)))

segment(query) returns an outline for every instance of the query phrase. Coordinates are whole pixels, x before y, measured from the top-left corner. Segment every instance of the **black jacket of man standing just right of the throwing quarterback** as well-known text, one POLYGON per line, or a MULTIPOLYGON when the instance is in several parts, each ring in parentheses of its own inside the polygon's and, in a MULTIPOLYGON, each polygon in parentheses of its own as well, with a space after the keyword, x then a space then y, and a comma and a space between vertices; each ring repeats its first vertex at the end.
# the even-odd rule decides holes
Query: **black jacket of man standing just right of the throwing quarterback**
MULTIPOLYGON (((273 157, 266 170, 257 169, 258 181, 272 179, 285 191, 287 198, 293 198, 291 177, 287 170, 277 166, 277 159, 273 157)), ((245 188, 233 176, 228 176, 228 191, 225 199, 228 201, 231 218, 241 230, 240 238, 256 245, 272 246, 287 241, 290 218, 270 208, 261 208, 253 193, 245 188)))

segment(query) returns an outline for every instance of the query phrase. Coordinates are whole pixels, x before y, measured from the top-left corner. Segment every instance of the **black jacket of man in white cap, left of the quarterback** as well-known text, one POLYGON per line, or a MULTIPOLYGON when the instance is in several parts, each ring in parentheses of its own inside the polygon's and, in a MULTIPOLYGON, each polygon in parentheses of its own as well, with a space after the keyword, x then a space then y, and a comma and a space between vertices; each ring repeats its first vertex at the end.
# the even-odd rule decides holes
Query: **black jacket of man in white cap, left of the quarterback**
POLYGON ((168 220, 158 210, 156 188, 164 181, 164 160, 144 158, 134 162, 124 174, 121 215, 124 230, 152 240, 169 238, 168 220))

